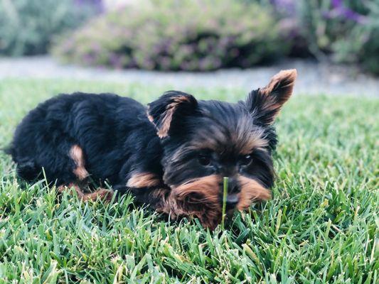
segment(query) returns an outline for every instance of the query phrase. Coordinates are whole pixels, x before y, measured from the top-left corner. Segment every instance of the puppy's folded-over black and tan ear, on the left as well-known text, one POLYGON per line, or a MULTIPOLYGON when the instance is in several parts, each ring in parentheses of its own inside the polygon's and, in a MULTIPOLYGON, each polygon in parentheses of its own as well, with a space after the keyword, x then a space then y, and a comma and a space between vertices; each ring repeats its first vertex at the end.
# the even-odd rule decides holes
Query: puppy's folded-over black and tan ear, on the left
POLYGON ((173 129, 181 126, 186 116, 195 112, 198 102, 191 94, 169 91, 148 106, 149 121, 156 127, 159 138, 165 138, 170 136, 173 129))

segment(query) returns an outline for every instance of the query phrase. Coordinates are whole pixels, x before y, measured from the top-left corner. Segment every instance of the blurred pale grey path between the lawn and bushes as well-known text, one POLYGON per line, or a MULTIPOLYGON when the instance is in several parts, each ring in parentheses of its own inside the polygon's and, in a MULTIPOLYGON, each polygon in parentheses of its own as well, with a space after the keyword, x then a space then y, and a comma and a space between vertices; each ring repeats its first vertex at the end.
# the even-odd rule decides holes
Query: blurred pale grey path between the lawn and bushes
POLYGON ((297 94, 333 94, 379 97, 379 77, 364 75, 353 67, 317 64, 309 60, 280 62, 269 67, 215 72, 154 72, 144 70, 106 70, 73 65, 60 65, 48 56, 0 58, 0 79, 6 77, 65 78, 139 82, 174 89, 188 86, 253 89, 266 84, 281 69, 297 68, 297 94))

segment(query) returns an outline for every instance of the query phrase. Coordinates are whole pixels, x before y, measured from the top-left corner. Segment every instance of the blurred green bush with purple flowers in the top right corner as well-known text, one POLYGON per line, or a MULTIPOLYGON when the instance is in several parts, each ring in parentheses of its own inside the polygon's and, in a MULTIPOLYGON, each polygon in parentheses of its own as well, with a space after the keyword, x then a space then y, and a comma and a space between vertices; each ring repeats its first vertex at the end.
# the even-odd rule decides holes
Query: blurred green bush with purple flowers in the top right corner
POLYGON ((301 35, 316 57, 359 63, 379 75, 379 0, 300 0, 301 35))

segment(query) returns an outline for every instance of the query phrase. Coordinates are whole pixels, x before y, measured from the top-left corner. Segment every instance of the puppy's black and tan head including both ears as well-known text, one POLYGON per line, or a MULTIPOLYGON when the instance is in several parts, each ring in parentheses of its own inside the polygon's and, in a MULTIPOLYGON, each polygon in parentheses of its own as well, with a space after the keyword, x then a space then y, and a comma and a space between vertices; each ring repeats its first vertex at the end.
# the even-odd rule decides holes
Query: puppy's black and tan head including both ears
POLYGON ((164 146, 164 182, 188 211, 220 217, 223 177, 229 178, 230 211, 271 197, 277 143, 272 124, 296 76, 296 70, 281 71, 237 104, 196 100, 177 91, 149 104, 149 119, 164 146))

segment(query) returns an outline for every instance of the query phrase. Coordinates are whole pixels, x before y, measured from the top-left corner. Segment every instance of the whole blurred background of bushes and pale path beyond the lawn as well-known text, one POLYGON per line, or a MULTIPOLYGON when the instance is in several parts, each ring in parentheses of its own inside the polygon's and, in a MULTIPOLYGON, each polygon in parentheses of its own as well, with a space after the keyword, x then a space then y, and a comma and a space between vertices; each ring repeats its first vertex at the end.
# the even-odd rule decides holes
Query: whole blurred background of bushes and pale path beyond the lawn
POLYGON ((0 0, 0 80, 379 96, 379 0, 0 0))

